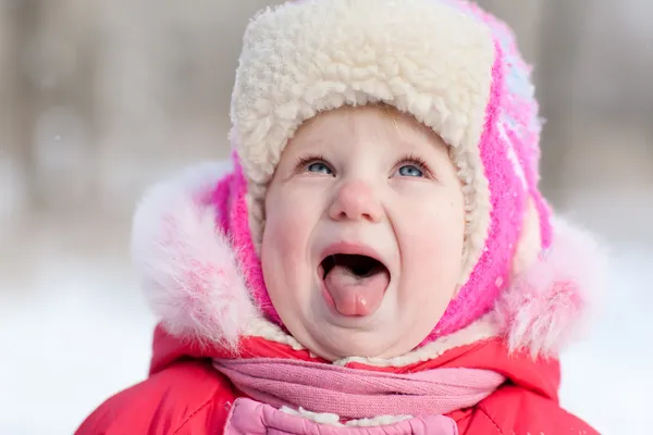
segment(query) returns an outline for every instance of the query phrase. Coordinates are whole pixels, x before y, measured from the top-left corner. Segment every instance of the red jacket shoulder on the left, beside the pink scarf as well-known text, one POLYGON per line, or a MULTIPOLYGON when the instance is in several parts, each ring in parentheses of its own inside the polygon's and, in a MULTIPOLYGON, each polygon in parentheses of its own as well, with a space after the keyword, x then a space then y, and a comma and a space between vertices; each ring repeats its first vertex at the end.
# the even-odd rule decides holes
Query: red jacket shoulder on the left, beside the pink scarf
POLYGON ((209 363, 180 362, 109 398, 75 434, 221 434, 233 400, 209 363))

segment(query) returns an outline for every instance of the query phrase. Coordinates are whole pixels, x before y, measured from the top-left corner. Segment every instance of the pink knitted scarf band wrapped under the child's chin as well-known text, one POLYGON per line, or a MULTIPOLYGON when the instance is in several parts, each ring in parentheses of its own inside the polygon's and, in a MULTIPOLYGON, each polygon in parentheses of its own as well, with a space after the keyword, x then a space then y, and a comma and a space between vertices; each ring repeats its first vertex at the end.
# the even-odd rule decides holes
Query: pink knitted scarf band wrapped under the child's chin
POLYGON ((346 420, 446 414, 477 405, 505 381, 478 369, 394 374, 272 358, 218 359, 213 366, 255 400, 346 420))

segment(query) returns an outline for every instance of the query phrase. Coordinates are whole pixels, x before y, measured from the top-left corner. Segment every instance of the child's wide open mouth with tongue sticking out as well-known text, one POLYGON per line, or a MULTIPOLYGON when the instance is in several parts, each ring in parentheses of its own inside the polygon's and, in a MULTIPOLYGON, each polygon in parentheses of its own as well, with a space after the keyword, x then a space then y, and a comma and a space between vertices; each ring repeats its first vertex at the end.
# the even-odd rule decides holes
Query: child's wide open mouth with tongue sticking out
POLYGON ((340 314, 366 316, 374 313, 390 284, 390 271, 379 260, 364 254, 335 253, 320 263, 326 302, 340 314))

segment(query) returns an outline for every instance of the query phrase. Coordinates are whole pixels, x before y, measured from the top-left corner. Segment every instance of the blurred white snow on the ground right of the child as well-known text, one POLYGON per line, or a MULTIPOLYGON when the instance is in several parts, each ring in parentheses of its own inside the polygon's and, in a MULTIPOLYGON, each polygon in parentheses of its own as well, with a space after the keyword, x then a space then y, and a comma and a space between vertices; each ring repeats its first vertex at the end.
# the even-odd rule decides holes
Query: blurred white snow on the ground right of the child
POLYGON ((563 406, 602 434, 650 433, 652 263, 651 246, 613 253, 604 312, 562 358, 563 406))

